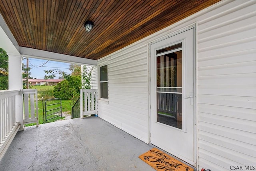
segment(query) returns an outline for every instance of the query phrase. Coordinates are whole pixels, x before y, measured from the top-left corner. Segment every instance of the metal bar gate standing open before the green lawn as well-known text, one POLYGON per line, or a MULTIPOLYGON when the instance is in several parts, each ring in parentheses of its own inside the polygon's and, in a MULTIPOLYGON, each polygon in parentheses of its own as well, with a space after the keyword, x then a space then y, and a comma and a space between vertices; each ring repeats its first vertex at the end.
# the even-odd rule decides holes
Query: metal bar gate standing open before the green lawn
POLYGON ((48 99, 44 101, 45 108, 45 122, 52 122, 62 117, 61 99, 48 99), (58 117, 58 118, 57 118, 58 117))

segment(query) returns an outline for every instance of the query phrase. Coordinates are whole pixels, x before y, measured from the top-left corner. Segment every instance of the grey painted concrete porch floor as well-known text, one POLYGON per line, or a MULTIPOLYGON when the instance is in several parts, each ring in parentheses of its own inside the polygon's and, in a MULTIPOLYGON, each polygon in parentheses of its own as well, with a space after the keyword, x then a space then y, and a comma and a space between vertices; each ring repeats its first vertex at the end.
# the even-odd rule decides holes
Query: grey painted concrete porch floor
POLYGON ((19 131, 0 171, 154 171, 138 158, 152 149, 99 117, 19 131))

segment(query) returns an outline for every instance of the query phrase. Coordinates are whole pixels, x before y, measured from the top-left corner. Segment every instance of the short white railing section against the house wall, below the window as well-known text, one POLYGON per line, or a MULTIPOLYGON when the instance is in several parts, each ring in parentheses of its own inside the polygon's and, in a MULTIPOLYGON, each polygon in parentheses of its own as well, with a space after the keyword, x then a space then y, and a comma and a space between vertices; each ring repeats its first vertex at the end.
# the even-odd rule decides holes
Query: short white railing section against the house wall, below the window
POLYGON ((97 89, 80 89, 80 117, 97 115, 97 89))

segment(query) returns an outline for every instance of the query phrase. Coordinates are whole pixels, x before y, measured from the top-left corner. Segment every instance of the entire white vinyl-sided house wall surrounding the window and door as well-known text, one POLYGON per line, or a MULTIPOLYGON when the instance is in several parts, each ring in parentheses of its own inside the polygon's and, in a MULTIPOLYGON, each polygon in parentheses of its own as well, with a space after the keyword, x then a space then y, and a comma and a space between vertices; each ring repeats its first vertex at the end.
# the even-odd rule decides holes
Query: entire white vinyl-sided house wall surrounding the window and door
POLYGON ((98 60, 109 65, 99 117, 148 143, 147 44, 197 22, 197 169, 255 165, 255 9, 255 0, 225 0, 98 60))

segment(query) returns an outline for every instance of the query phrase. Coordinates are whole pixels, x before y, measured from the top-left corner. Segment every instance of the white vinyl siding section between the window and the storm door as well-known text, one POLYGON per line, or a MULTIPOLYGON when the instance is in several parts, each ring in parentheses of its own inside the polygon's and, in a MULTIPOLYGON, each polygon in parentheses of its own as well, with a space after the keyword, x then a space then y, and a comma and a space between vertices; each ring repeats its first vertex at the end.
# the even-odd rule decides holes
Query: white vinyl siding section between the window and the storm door
POLYGON ((98 116, 148 143, 147 46, 131 50, 108 58, 108 103, 98 101, 98 116))

